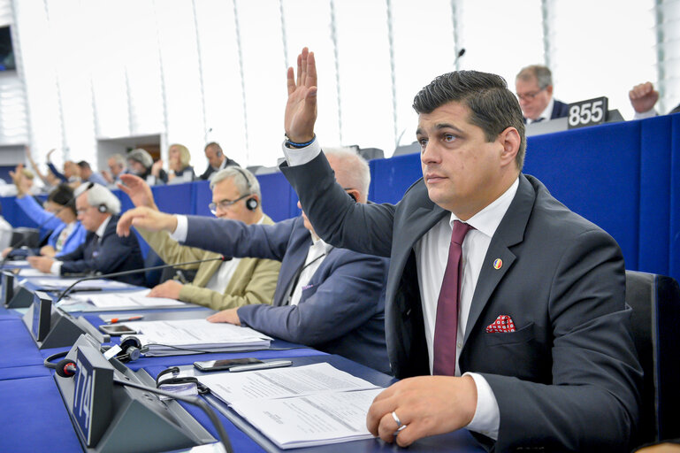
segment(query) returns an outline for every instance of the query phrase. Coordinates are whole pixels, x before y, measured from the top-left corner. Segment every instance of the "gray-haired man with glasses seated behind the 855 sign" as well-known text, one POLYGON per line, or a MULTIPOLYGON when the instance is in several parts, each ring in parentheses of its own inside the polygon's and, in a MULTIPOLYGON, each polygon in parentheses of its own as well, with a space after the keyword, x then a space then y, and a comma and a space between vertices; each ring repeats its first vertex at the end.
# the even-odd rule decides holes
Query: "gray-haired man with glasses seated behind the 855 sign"
POLYGON ((526 124, 569 115, 569 105, 553 97, 553 73, 546 66, 522 68, 515 79, 515 91, 526 124))

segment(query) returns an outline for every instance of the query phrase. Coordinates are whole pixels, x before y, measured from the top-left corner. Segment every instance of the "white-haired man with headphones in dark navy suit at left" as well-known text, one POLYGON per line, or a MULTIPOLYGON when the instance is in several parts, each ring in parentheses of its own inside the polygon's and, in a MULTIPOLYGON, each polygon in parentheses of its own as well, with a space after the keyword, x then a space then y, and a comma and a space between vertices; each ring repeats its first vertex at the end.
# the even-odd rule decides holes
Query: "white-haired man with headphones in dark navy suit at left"
MULTIPOLYGON (((75 190, 76 210, 87 239, 76 250, 61 257, 28 257, 28 263, 43 273, 118 273, 144 267, 137 236, 116 234, 120 201, 111 190, 99 184, 83 184, 75 190)), ((144 286, 144 273, 114 277, 132 285, 144 286)))

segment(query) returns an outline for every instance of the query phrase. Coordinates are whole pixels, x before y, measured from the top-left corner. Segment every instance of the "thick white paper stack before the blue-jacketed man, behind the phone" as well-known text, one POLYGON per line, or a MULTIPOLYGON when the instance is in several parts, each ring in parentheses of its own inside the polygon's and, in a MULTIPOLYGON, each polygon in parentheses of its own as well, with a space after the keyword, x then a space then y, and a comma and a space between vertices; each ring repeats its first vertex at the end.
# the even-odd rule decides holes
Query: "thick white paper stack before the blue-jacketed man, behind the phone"
MULTIPOLYGON (((249 327, 211 323, 205 319, 135 321, 133 327, 142 346, 149 346, 147 356, 179 356, 196 350, 238 351, 267 349, 271 336, 249 327)), ((122 338, 125 340, 126 336, 122 338)))

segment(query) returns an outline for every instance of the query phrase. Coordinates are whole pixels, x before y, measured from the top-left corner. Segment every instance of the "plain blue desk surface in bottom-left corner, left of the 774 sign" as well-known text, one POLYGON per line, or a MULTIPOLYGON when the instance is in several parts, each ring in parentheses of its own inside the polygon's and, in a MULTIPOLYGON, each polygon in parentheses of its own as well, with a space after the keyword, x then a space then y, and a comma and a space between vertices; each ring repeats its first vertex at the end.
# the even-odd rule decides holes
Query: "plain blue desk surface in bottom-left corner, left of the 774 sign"
POLYGON ((0 451, 82 451, 51 376, 0 380, 0 451))

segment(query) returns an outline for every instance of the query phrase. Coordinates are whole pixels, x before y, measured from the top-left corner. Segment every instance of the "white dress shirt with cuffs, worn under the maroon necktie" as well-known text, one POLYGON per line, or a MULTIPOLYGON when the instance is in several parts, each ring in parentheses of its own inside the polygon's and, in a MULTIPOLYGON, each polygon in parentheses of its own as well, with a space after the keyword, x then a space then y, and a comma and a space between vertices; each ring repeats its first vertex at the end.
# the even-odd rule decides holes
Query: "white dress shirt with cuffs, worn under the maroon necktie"
MULTIPOLYGON (((552 104, 554 103, 551 100, 551 111, 552 104)), ((312 142, 308 147, 297 150, 287 148, 286 142, 284 142, 282 148, 287 163, 290 166, 307 164, 321 152, 321 146, 319 145, 318 140, 312 142)), ((515 180, 512 186, 510 186, 503 195, 468 220, 468 223, 470 223, 471 226, 475 226, 477 231, 471 230, 466 235, 462 244, 463 275, 460 314, 458 316, 459 339, 464 338, 465 335, 465 327, 467 326, 468 314, 470 313, 472 295, 475 292, 474 289, 477 285, 486 250, 489 248, 489 243, 491 242, 493 233, 495 233, 496 228, 500 224, 500 220, 505 215, 505 212, 508 211, 508 207, 515 197, 518 187, 519 180, 515 180)), ((424 236, 416 242, 415 246, 418 283, 420 285, 420 297, 423 303, 425 340, 430 355, 431 372, 434 324, 437 317, 437 300, 439 299, 439 290, 441 289, 441 282, 444 278, 444 271, 447 265, 448 243, 451 239, 451 232, 453 231, 453 222, 455 219, 457 218, 452 212, 449 218, 442 219, 437 225, 433 226, 430 231, 424 234, 424 236), (425 272, 424 268, 427 268, 430 272, 425 272), (438 275, 433 275, 434 273, 438 273, 438 275)), ((456 344, 456 357, 460 357, 461 348, 462 340, 456 344)), ((457 358, 455 370, 455 375, 459 376, 460 368, 457 358)), ((466 372, 465 375, 469 375, 477 386, 477 408, 472 421, 470 421, 470 424, 466 427, 471 431, 485 434, 494 440, 498 439, 500 410, 491 386, 489 386, 488 382, 481 374, 466 372)))

